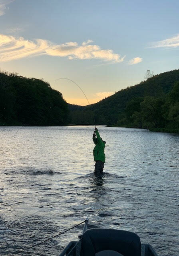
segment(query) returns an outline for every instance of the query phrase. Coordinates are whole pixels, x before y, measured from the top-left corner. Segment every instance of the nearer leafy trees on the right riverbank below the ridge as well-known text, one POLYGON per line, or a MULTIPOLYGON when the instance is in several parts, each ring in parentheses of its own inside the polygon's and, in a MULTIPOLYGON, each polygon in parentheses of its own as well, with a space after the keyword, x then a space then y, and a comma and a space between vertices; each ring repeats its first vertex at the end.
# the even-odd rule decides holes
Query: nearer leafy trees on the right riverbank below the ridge
POLYGON ((124 120, 129 127, 179 132, 179 82, 165 97, 145 96, 140 103, 138 98, 131 100, 125 108, 125 117, 117 124, 124 125, 124 120))

